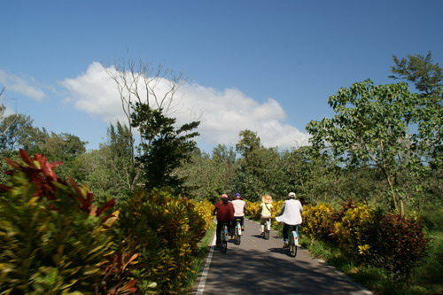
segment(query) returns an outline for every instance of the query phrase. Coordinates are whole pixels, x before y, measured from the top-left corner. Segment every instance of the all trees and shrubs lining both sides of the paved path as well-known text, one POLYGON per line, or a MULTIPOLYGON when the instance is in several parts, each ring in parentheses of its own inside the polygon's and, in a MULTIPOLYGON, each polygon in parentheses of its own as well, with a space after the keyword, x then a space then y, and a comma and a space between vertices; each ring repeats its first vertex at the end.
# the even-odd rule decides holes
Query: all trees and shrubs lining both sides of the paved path
POLYGON ((335 115, 307 124, 311 145, 289 150, 243 130, 235 147, 199 151, 199 122, 173 117, 180 75, 143 62, 113 71, 127 122, 94 151, 0 108, 0 293, 185 294, 214 201, 237 191, 255 218, 262 195, 276 214, 295 191, 302 245, 371 291, 443 291, 442 68, 431 52, 394 57, 396 83, 338 89, 335 115))

